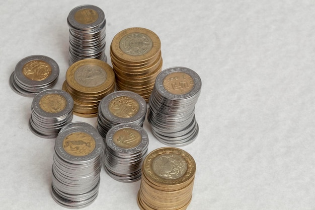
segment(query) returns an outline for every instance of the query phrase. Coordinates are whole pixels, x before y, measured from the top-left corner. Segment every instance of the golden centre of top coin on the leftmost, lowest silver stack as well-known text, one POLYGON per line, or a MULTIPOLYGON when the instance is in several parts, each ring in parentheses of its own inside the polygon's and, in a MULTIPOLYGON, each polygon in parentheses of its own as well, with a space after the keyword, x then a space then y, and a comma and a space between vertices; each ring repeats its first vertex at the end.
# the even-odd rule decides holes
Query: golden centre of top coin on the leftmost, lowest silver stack
POLYGON ((51 66, 43 60, 31 60, 24 64, 23 75, 30 80, 42 81, 51 74, 51 66))

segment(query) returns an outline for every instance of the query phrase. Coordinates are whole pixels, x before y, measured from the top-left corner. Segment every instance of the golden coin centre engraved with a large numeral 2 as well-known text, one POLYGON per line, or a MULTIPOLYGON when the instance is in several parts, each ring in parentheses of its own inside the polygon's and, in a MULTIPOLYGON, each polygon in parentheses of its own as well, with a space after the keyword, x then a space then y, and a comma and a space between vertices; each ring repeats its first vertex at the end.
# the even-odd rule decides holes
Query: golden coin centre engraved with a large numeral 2
POLYGON ((132 128, 119 129, 113 135, 114 144, 123 149, 130 149, 138 146, 141 139, 140 133, 132 128))

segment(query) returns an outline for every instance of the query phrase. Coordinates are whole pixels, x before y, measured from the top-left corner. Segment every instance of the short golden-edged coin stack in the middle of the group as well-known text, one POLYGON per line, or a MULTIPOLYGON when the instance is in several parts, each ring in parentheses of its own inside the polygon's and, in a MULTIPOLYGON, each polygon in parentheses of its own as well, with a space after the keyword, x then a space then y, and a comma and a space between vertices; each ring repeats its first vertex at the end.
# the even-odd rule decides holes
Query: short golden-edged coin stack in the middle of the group
POLYGON ((62 90, 72 96, 74 114, 95 117, 100 101, 115 90, 115 73, 102 60, 80 60, 68 68, 62 90))

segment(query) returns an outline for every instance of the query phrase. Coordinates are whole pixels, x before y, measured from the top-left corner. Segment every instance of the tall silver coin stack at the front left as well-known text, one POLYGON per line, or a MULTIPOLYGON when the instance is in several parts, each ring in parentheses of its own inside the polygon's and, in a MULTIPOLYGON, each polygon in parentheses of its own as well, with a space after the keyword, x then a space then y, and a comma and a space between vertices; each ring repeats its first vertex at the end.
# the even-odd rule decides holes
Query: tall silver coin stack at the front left
POLYGON ((94 128, 74 126, 58 134, 51 192, 59 205, 82 208, 96 199, 103 154, 103 138, 94 128))

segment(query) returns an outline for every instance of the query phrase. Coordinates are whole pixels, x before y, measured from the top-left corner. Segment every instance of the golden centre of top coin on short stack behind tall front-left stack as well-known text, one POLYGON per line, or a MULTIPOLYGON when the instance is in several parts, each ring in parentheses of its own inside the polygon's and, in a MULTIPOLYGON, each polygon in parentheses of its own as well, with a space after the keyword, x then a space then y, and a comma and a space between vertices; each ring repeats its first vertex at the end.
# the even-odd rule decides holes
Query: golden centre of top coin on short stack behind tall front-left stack
POLYGON ((62 111, 66 105, 66 99, 63 96, 54 93, 44 95, 39 101, 40 108, 49 113, 58 113, 62 111))

